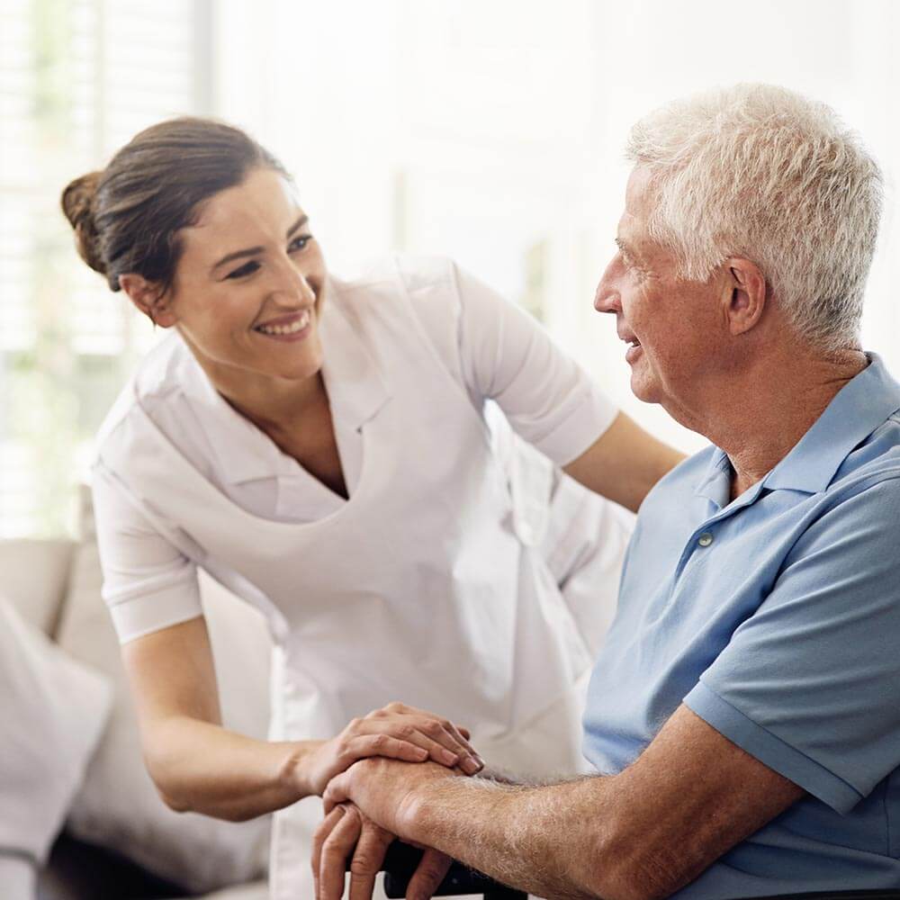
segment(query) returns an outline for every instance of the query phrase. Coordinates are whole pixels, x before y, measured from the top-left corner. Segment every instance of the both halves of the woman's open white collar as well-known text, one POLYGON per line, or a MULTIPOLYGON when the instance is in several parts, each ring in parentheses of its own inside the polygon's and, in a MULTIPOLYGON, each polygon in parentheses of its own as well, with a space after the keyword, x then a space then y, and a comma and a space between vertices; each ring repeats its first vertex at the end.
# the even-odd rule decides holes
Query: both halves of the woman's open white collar
MULTIPOLYGON (((390 393, 346 306, 342 285, 329 278, 319 325, 324 355, 322 378, 332 417, 359 430, 382 409, 390 393)), ((179 342, 184 352, 183 365, 179 366, 180 386, 201 419, 222 480, 239 484, 295 472, 295 461, 231 407, 212 386, 190 349, 180 338, 179 342)))

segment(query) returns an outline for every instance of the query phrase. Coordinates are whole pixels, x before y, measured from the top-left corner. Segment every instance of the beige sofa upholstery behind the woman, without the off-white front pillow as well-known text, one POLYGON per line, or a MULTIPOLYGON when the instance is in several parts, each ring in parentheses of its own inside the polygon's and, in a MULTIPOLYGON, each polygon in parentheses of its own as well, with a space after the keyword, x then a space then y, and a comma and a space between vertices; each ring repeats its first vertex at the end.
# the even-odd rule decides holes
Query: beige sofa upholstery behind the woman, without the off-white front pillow
MULTIPOLYGON (((69 657, 112 682, 112 715, 69 810, 67 829, 191 891, 214 892, 211 900, 266 900, 267 818, 231 824, 175 814, 148 779, 119 646, 100 597, 89 507, 83 530, 85 540, 79 544, 0 541, 4 596, 24 619, 55 636, 69 657)), ((225 722, 264 737, 271 650, 266 626, 255 610, 218 584, 205 578, 201 584, 225 722)), ((27 863, 18 868, 31 869, 27 863)))

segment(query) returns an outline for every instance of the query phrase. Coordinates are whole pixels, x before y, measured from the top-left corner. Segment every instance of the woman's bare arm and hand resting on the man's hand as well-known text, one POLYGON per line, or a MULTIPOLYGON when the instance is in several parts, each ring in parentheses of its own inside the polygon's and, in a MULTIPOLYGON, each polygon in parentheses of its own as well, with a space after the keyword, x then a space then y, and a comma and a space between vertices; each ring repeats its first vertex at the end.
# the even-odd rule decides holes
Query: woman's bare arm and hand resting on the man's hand
POLYGON ((210 639, 202 617, 122 647, 144 759, 167 806, 243 821, 320 794, 329 779, 369 756, 481 769, 467 733, 392 704, 355 719, 329 741, 274 743, 221 724, 210 639), (471 762, 470 762, 471 761, 471 762))

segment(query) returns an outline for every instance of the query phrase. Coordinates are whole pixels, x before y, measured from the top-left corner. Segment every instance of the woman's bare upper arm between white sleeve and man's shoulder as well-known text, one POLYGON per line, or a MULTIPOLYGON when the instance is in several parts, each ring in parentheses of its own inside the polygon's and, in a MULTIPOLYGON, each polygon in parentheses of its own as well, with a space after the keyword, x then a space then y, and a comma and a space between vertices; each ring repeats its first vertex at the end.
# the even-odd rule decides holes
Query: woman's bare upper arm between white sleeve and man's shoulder
POLYGON ((563 466, 563 472, 637 512, 653 485, 683 459, 684 455, 620 412, 581 456, 563 466))

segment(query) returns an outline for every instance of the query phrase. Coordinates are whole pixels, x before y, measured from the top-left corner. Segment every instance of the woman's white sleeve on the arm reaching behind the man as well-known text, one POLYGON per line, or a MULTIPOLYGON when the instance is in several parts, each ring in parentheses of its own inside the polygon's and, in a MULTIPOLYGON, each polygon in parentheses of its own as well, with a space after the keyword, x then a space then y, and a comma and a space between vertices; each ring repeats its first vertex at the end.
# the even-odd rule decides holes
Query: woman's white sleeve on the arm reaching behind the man
POLYGON ((496 401, 518 435, 555 464, 571 463, 612 424, 615 404, 532 316, 454 268, 467 390, 496 401))

